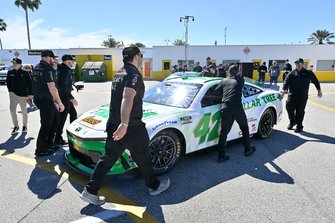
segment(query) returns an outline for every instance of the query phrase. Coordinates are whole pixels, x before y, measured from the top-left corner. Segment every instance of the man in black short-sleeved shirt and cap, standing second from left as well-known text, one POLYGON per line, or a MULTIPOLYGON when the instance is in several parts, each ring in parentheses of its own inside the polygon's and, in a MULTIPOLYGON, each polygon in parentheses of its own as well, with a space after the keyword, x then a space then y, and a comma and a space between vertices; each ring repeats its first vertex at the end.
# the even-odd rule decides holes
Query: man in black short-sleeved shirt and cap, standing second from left
POLYGON ((36 156, 47 156, 59 147, 54 146, 57 127, 57 112, 64 111, 64 105, 55 85, 56 75, 52 64, 55 58, 51 50, 41 53, 42 60, 33 70, 34 103, 40 110, 41 128, 36 142, 36 156))

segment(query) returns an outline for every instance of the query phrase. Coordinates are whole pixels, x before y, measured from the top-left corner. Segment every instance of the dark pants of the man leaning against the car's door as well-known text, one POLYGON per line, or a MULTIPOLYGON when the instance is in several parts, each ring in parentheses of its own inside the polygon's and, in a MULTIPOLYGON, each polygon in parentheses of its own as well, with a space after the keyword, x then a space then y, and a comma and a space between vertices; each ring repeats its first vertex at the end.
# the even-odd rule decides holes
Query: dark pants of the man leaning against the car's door
POLYGON ((225 149, 227 144, 227 135, 231 130, 231 127, 234 124, 234 121, 236 120, 237 124, 240 126, 240 129, 243 134, 243 145, 244 149, 248 150, 250 149, 250 134, 249 134, 249 127, 248 127, 248 121, 247 116, 245 115, 245 112, 241 107, 237 108, 225 108, 222 109, 222 121, 221 121, 221 134, 219 139, 219 158, 222 158, 225 156, 225 149))

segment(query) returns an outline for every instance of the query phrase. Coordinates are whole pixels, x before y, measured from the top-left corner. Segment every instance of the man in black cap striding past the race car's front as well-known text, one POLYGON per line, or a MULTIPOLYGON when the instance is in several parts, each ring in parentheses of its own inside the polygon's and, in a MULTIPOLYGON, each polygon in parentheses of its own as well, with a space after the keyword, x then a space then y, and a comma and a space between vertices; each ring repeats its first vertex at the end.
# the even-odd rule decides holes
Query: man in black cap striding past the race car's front
POLYGON ((157 195, 170 185, 169 178, 161 181, 154 175, 149 154, 149 135, 142 122, 144 82, 139 72, 142 53, 137 47, 122 51, 124 71, 113 78, 110 114, 107 122, 105 155, 98 161, 89 183, 80 197, 90 204, 102 205, 103 197, 97 196, 103 178, 127 148, 136 162, 150 195, 157 195))

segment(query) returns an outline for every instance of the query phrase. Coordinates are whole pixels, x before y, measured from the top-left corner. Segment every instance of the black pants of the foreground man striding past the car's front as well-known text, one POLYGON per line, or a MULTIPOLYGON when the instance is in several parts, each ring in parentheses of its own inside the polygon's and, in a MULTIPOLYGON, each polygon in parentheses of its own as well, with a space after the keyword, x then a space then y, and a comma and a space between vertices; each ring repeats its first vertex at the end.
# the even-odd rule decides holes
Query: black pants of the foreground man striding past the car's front
POLYGON ((113 125, 107 130, 106 154, 100 158, 95 166, 90 182, 86 186, 87 191, 92 194, 98 193, 103 183, 103 178, 125 149, 129 149, 131 157, 139 167, 146 186, 157 189, 160 182, 152 168, 149 154, 149 136, 145 125, 129 126, 126 135, 120 141, 114 141, 112 135, 117 127, 117 125, 113 125))

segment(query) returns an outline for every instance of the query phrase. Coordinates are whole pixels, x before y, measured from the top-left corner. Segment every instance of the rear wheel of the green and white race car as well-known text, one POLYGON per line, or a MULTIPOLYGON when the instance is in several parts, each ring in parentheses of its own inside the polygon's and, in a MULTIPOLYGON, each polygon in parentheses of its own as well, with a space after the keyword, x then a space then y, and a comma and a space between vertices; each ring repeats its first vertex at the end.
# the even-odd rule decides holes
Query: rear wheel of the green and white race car
POLYGON ((275 113, 271 108, 264 111, 258 124, 258 131, 256 134, 258 138, 265 139, 271 134, 275 119, 275 113))

